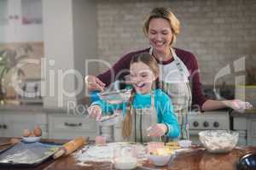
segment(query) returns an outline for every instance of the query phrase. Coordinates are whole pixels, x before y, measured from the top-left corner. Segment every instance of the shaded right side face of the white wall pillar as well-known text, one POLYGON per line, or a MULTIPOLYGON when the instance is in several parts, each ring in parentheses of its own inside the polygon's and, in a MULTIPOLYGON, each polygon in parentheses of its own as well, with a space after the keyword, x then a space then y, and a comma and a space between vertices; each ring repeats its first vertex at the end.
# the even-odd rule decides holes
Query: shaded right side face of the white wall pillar
MULTIPOLYGON (((96 2, 94 0, 73 0, 74 65, 82 76, 82 80, 77 79, 79 81, 84 81, 85 75, 98 74, 98 65, 95 62, 85 65, 86 60, 98 58, 96 34, 96 2)), ((76 87, 79 86, 79 81, 76 81, 76 87)), ((77 95, 77 99, 82 98, 84 98, 84 89, 77 95)))

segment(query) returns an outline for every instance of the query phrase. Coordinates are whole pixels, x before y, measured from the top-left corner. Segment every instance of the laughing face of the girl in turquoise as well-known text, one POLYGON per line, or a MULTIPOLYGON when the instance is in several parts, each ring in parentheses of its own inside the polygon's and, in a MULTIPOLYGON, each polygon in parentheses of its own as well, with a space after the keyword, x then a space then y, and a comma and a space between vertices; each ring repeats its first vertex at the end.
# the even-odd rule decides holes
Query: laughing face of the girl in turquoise
POLYGON ((131 82, 137 93, 148 94, 156 77, 148 65, 143 62, 133 63, 130 66, 131 82))

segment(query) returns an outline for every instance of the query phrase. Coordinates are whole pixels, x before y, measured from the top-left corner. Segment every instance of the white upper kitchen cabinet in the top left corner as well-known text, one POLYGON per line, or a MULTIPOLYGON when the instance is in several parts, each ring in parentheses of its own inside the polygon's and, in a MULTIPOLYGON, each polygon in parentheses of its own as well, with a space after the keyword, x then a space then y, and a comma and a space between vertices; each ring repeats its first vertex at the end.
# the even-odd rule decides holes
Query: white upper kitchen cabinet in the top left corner
POLYGON ((0 42, 41 42, 42 0, 0 0, 0 42))

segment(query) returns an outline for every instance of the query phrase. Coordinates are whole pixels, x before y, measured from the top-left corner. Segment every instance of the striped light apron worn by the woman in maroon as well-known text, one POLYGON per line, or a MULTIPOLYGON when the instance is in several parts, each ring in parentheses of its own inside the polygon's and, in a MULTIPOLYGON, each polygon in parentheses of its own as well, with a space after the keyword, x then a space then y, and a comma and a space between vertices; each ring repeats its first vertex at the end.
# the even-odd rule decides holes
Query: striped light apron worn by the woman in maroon
MULTIPOLYGON (((173 62, 177 65, 180 76, 187 78, 187 80, 183 79, 180 82, 160 81, 159 88, 161 88, 172 99, 173 109, 177 115, 177 120, 181 128, 180 138, 189 139, 188 113, 192 101, 192 94, 189 87, 189 71, 183 64, 183 61, 177 57, 174 49, 170 49, 174 59, 173 62)), ((149 54, 153 54, 153 48, 150 48, 149 54)))

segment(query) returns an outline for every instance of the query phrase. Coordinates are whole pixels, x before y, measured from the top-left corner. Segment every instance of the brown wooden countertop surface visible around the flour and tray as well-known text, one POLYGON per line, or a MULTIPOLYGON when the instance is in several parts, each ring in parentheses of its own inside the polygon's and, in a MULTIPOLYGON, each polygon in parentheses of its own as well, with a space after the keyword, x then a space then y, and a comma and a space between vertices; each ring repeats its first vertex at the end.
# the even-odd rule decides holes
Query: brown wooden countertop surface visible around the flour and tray
MULTIPOLYGON (((8 138, 0 138, 0 144, 8 141, 8 138)), ((44 140, 47 142, 63 143, 67 140, 44 140)), ((250 152, 256 152, 256 147, 236 148, 228 154, 211 154, 201 147, 195 148, 189 152, 180 152, 166 167, 154 167, 152 164, 146 162, 143 167, 137 169, 154 170, 154 169, 170 169, 170 170, 236 170, 236 162, 240 156, 250 152)), ((113 165, 106 162, 91 163, 87 166, 79 166, 78 162, 73 156, 61 157, 53 160, 50 158, 44 161, 38 167, 0 167, 1 170, 90 170, 90 169, 114 169, 113 165)))

